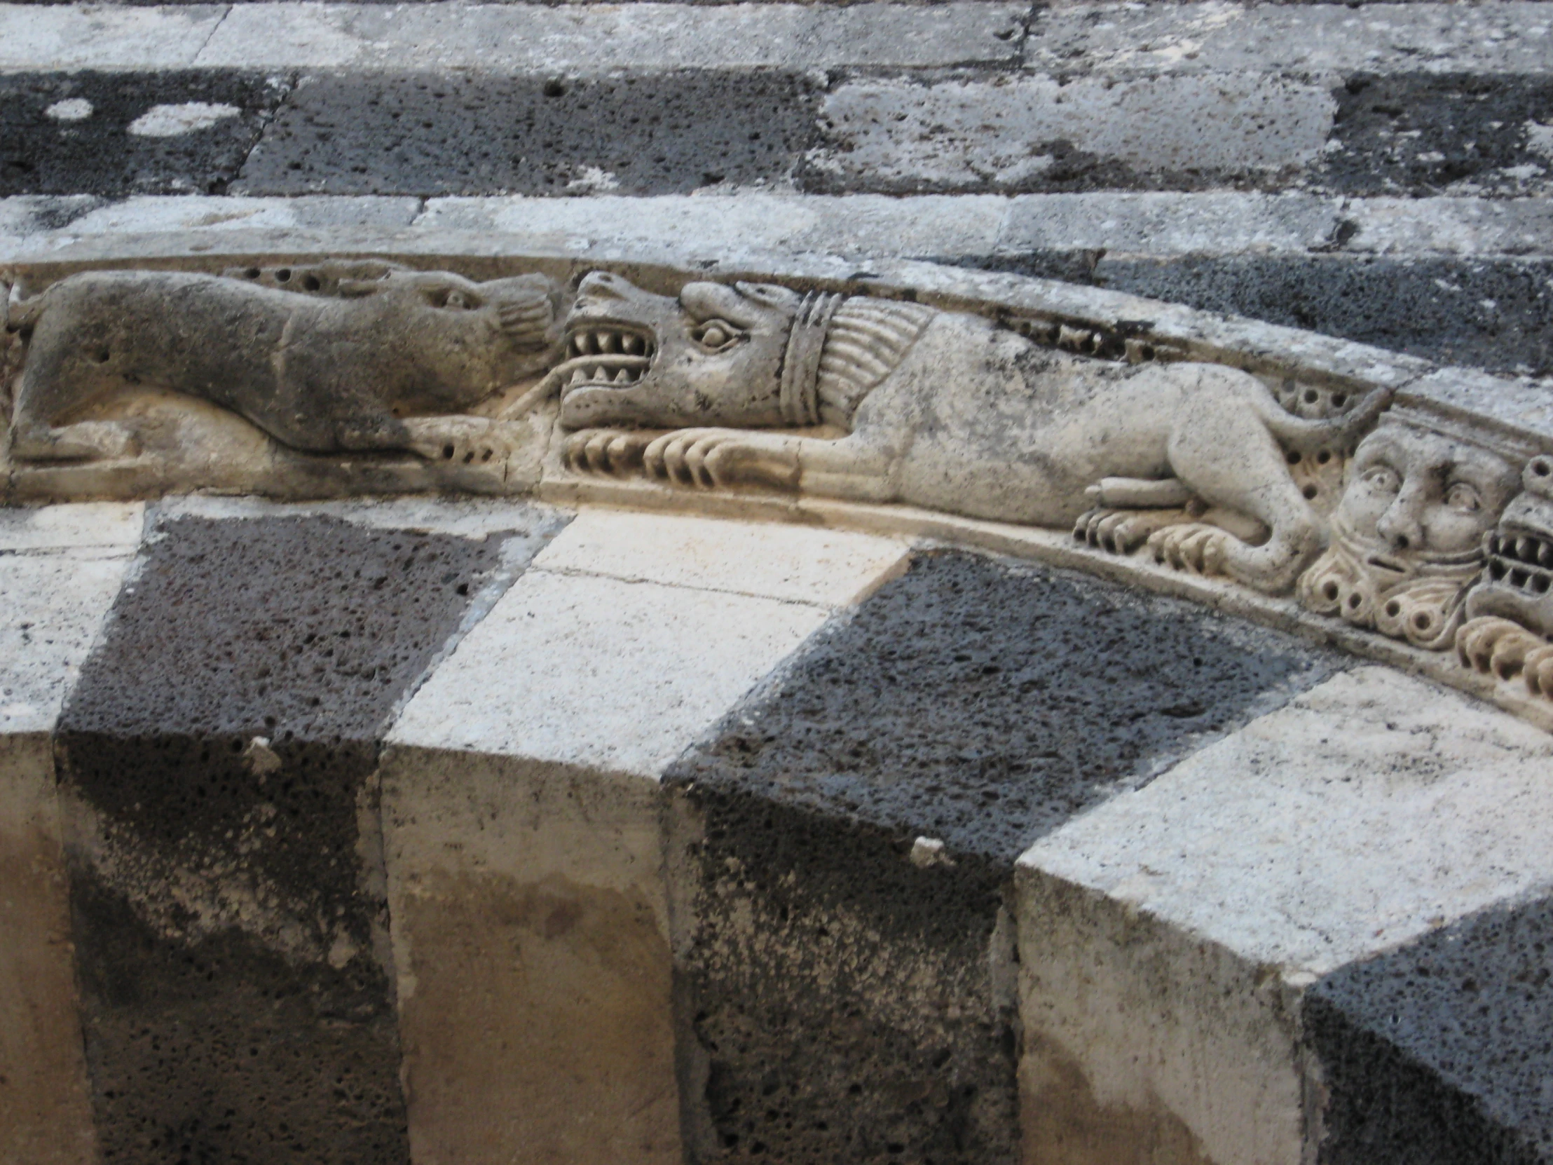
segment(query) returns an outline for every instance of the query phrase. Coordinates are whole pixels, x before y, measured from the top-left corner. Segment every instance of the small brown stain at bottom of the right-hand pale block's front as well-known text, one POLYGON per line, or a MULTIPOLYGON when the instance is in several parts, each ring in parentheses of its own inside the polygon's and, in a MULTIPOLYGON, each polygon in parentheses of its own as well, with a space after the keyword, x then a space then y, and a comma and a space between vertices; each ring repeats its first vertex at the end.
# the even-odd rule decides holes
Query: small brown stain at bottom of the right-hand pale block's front
POLYGON ((1079 1061, 1050 1039, 1025 1033, 1019 1075, 1025 1165, 1214 1165, 1157 1097, 1146 1108, 1103 1104, 1079 1061))

